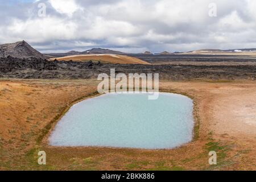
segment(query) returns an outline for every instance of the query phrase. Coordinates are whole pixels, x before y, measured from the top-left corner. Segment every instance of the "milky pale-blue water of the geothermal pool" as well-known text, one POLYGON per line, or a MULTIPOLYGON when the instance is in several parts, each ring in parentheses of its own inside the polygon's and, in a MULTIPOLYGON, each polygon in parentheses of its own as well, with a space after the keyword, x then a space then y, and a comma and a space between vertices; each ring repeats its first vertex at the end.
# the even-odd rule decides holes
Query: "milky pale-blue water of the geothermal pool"
POLYGON ((57 123, 51 146, 161 149, 192 140, 193 101, 160 93, 104 94, 75 104, 57 123))

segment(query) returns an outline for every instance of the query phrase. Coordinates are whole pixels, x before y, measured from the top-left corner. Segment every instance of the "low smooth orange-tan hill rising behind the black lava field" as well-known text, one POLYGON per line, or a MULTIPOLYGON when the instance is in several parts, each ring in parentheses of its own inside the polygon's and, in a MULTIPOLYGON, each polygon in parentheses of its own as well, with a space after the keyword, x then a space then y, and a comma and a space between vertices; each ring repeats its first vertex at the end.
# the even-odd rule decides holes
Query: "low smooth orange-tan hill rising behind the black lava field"
MULTIPOLYGON (((51 58, 55 60, 55 58, 51 58)), ((125 55, 115 54, 101 54, 101 55, 73 55, 65 57, 57 57, 59 61, 100 61, 102 64, 150 64, 146 61, 138 59, 136 57, 130 57, 125 55)))

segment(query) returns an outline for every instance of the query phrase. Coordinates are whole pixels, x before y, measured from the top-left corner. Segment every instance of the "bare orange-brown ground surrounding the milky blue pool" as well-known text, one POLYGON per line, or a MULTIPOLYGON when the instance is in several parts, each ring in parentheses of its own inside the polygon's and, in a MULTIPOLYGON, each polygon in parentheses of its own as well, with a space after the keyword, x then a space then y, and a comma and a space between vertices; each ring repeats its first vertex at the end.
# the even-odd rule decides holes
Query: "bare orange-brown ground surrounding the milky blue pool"
POLYGON ((195 101, 195 140, 174 150, 48 146, 57 118, 96 87, 95 80, 0 81, 0 169, 256 169, 256 82, 162 81, 162 91, 195 101), (46 166, 37 164, 40 150, 46 166), (216 166, 208 164, 212 150, 216 166))

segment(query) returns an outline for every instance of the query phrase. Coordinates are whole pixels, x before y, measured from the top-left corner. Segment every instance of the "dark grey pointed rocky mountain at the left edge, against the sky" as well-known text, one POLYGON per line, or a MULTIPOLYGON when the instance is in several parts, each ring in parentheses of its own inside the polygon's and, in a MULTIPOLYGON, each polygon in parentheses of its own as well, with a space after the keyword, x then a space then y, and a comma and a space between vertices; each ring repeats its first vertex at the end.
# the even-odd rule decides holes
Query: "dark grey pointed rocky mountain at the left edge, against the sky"
POLYGON ((0 57, 16 57, 16 58, 46 58, 42 53, 32 48, 30 44, 24 40, 16 43, 1 44, 0 45, 0 57))

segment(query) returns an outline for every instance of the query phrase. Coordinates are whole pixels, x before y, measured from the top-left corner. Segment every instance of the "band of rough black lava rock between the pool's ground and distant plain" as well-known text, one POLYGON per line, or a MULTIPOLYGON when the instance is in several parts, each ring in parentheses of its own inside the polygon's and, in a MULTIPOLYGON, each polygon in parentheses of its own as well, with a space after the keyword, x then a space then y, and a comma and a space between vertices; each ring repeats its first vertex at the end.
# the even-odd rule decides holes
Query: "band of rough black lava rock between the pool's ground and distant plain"
POLYGON ((101 64, 44 59, 0 59, 0 78, 85 79, 97 78, 115 68, 116 73, 159 73, 166 80, 256 79, 255 65, 139 65, 101 64))

